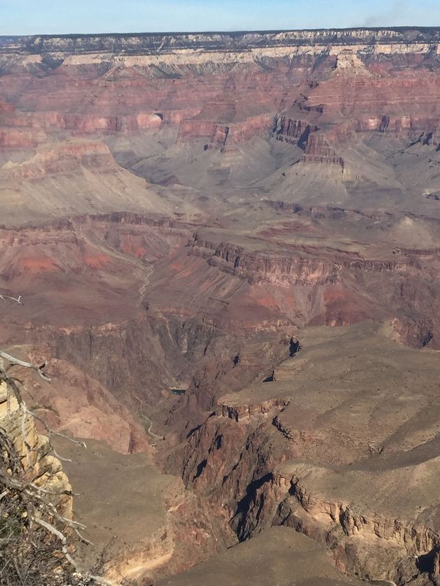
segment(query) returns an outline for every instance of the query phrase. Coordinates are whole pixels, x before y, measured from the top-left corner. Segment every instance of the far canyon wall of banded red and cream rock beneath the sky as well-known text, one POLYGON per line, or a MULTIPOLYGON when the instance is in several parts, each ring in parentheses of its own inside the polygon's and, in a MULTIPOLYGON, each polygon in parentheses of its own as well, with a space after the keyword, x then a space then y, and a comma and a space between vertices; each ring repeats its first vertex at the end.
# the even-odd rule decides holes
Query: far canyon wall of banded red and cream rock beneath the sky
MULTIPOLYGON (((436 67, 438 37, 434 28, 408 28, 3 38, 0 67, 8 76, 0 91, 19 109, 40 111, 43 127, 80 135, 171 124, 181 141, 203 138, 224 147, 265 135, 274 117, 291 115, 292 107, 292 120, 301 113, 349 114, 349 128, 336 128, 345 139, 373 130, 437 133, 437 77, 423 68, 436 67), (397 79, 402 67, 415 75, 397 79), (72 76, 81 80, 76 89, 72 76), (94 95, 84 102, 87 87, 94 95), (417 103, 416 93, 423 95, 417 103)), ((35 144, 34 131, 12 128, 24 121, 9 113, 1 124, 9 126, 2 130, 5 145, 35 144)), ((324 117, 318 126, 328 122, 324 117)), ((292 128, 278 128, 284 135, 292 128)), ((342 164, 338 148, 322 137, 308 149, 306 162, 342 164)))

